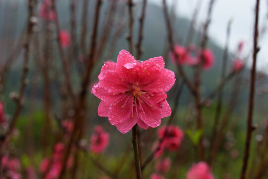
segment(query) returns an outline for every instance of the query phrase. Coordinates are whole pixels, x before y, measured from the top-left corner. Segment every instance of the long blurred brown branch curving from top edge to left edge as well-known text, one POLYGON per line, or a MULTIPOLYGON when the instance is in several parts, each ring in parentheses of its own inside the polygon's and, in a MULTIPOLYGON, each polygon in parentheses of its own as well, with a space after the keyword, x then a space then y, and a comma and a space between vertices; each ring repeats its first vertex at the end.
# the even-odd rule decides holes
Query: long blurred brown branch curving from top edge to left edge
POLYGON ((3 145, 7 140, 9 139, 10 135, 12 134, 16 122, 18 120, 19 114, 22 109, 23 105, 23 98, 24 98, 24 91, 27 85, 27 75, 29 71, 29 59, 30 59, 30 42, 32 38, 32 28, 34 25, 34 22, 32 21, 32 17, 34 16, 34 0, 28 0, 28 25, 26 30, 26 37, 24 41, 24 61, 23 61, 23 70, 21 75, 21 81, 20 81, 20 87, 19 87, 19 94, 18 98, 16 99, 17 106, 15 109, 15 112, 12 117, 12 121, 10 122, 10 125, 7 129, 7 132, 1 136, 0 138, 0 153, 3 148, 3 145))

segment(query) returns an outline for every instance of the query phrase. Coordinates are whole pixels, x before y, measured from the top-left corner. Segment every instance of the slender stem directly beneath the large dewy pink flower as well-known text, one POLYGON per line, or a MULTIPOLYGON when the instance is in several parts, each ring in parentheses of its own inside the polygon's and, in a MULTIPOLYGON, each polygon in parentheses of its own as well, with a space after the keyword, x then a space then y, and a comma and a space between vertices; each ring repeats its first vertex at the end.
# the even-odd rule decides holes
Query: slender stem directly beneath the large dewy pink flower
POLYGON ((132 145, 133 145, 133 151, 134 151, 135 169, 136 169, 137 179, 142 179, 139 156, 138 156, 137 124, 134 125, 134 127, 132 128, 132 145))

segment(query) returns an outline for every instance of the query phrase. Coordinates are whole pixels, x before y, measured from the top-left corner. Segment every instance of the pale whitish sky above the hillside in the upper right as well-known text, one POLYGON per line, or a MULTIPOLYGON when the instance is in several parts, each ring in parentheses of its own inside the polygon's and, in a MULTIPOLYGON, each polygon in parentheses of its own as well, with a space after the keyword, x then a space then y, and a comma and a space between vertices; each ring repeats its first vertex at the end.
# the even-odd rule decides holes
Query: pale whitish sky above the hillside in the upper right
MULTIPOLYGON (((151 2, 162 5, 162 0, 150 0, 151 2)), ((179 16, 191 18, 193 10, 198 0, 178 0, 177 13, 179 16)), ((198 19, 199 25, 205 21, 207 7, 210 0, 202 0, 200 15, 198 19)), ((167 0, 171 4, 173 0, 167 0)), ((255 16, 256 0, 215 0, 212 11, 211 24, 208 29, 208 34, 216 42, 224 46, 226 38, 226 26, 230 19, 233 20, 231 27, 230 49, 234 50, 239 41, 246 42, 246 51, 251 51, 253 48, 253 24, 255 16)), ((264 27, 268 25, 268 3, 267 0, 260 1, 260 25, 264 27)), ((268 34, 260 39, 259 45, 261 51, 258 54, 258 69, 268 73, 268 34)), ((250 61, 252 58, 249 59, 250 61)))

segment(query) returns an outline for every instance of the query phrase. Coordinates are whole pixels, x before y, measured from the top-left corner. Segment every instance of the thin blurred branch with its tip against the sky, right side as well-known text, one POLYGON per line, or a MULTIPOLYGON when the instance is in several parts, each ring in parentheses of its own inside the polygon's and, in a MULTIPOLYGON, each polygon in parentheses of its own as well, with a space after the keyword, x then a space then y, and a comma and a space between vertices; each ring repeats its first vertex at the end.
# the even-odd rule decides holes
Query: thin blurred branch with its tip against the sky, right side
MULTIPOLYGON (((229 41, 230 41, 230 28, 231 28, 231 23, 228 22, 227 25, 227 30, 226 30, 226 42, 225 42, 225 48, 223 52, 223 57, 222 57, 222 67, 221 67, 221 77, 220 81, 223 81, 226 76, 226 68, 227 68, 227 59, 228 59, 228 46, 229 46, 229 41)), ((213 150, 212 148, 214 147, 215 139, 217 137, 217 132, 218 132, 218 123, 219 123, 219 118, 221 115, 221 109, 222 109, 222 97, 223 97, 223 87, 218 90, 218 99, 217 99, 217 107, 216 107, 216 113, 214 116, 214 125, 212 127, 212 135, 210 139, 210 152, 213 150)), ((212 161, 213 161, 213 156, 209 155, 209 165, 211 166, 212 161)))

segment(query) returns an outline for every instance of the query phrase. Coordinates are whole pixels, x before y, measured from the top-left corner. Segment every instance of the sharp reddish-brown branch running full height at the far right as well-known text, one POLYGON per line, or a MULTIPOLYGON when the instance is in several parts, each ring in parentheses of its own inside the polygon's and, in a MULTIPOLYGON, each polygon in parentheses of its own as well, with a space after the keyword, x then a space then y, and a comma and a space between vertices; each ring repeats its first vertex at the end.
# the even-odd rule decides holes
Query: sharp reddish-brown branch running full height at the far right
POLYGON ((249 155, 250 155, 251 136, 252 136, 252 131, 253 131, 252 121, 253 121, 253 112, 254 112, 256 61, 257 61, 257 53, 260 50, 258 47, 259 5, 260 5, 260 0, 256 0, 254 46, 253 46, 254 53, 253 53, 253 65, 252 65, 252 69, 251 69, 251 80, 250 80, 249 111, 248 111, 248 120, 247 120, 247 138, 246 138, 246 143, 245 143, 243 166, 242 166, 242 170, 241 170, 240 179, 246 178, 246 172, 247 172, 249 155))

